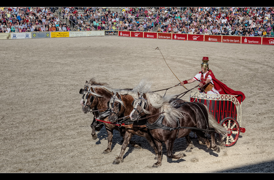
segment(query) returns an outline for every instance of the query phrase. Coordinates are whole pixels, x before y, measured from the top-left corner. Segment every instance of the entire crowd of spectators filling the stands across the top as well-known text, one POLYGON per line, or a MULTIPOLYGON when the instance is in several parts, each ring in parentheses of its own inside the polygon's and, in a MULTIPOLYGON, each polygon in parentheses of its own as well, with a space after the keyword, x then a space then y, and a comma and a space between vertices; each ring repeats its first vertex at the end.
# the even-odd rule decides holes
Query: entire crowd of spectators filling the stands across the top
POLYGON ((53 7, 1 8, 1 30, 154 30, 164 33, 274 37, 273 7, 123 7, 115 12, 108 7, 59 7, 59 15, 54 15, 54 11, 53 7), (67 26, 66 22, 72 27, 67 26))

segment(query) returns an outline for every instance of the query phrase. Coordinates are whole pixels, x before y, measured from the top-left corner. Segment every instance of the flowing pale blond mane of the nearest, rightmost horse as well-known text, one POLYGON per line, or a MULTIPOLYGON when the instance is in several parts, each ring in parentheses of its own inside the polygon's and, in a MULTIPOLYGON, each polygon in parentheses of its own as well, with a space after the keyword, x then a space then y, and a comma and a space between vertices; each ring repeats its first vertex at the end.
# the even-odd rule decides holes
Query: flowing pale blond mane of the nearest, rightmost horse
MULTIPOLYGON (((145 92, 145 94, 146 94, 148 105, 156 109, 159 109, 159 113, 165 112, 163 113, 163 115, 165 116, 166 121, 168 123, 176 124, 176 120, 178 118, 179 119, 184 118, 183 111, 173 107, 174 103, 176 103, 175 101, 172 101, 174 98, 174 95, 162 97, 161 95, 151 91, 145 92)), ((146 114, 150 114, 150 112, 145 109, 144 109, 144 112, 146 114)))

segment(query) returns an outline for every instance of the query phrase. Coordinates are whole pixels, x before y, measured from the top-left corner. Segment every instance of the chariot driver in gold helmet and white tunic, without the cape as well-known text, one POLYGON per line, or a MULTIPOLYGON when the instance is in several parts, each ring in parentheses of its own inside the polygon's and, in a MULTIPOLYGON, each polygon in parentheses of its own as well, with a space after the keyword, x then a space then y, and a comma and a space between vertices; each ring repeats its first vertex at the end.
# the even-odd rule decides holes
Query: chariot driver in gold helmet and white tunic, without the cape
POLYGON ((199 90, 201 93, 205 94, 220 94, 214 87, 214 83, 212 81, 211 74, 209 68, 208 68, 208 57, 203 57, 202 59, 203 63, 201 64, 201 72, 196 74, 195 77, 192 79, 185 80, 181 82, 181 85, 183 86, 184 84, 188 83, 193 83, 195 81, 199 81, 200 83, 198 86, 200 87, 199 90))

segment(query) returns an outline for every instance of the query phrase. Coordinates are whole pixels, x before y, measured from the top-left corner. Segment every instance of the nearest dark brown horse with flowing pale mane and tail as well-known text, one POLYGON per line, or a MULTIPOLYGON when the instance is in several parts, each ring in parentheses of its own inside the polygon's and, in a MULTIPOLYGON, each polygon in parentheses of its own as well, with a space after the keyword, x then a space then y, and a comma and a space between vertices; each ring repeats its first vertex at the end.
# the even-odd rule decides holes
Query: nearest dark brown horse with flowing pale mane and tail
POLYGON ((134 100, 133 106, 134 109, 130 113, 131 120, 138 121, 140 116, 146 115, 147 127, 156 143, 158 160, 153 167, 159 167, 162 164, 162 143, 166 144, 168 158, 185 157, 183 152, 177 155, 172 154, 173 145, 176 138, 185 137, 191 131, 206 138, 205 143, 208 149, 213 148, 217 153, 220 152, 215 143, 215 131, 221 134, 227 131, 209 115, 205 105, 191 102, 181 104, 169 96, 162 97, 148 91, 142 95, 138 94, 138 99, 134 100), (207 133, 211 135, 211 144, 207 139, 207 133))

